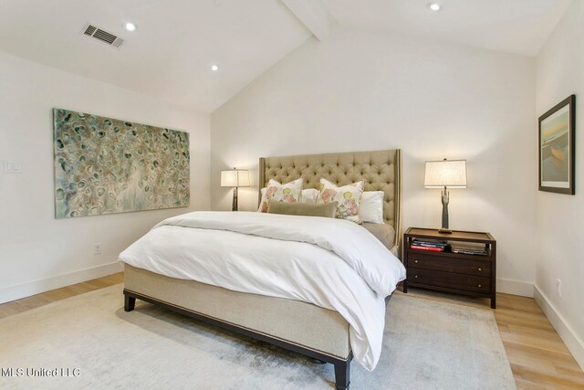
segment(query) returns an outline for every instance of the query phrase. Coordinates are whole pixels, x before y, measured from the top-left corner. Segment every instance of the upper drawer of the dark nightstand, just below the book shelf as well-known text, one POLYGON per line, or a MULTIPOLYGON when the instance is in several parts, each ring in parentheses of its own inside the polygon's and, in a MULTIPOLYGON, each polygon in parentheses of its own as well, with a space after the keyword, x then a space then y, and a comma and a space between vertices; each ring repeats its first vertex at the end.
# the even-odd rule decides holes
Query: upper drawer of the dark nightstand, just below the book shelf
POLYGON ((487 278, 491 276, 490 261, 469 260, 467 258, 447 258, 444 256, 428 256, 410 253, 408 255, 408 267, 485 276, 487 278))

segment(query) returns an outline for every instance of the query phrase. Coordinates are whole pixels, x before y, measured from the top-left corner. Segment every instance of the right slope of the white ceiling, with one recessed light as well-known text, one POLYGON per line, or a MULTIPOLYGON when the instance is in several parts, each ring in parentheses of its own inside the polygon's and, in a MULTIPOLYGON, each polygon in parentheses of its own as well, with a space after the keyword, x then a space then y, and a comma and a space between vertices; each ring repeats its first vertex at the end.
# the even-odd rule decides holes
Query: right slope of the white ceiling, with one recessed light
MULTIPOLYGON (((535 56, 572 0, 323 0, 343 26, 361 26, 535 56), (442 5, 439 12, 427 6, 442 5)), ((576 0, 580 1, 580 0, 576 0)))

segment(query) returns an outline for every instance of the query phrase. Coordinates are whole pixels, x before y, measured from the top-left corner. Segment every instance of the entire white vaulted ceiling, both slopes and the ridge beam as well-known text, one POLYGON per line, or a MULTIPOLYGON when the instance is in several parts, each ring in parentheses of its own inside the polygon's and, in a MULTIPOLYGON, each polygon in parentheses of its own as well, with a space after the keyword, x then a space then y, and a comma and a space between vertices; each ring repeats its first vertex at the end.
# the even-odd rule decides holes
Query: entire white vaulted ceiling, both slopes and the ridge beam
POLYGON ((210 112, 313 34, 357 26, 533 56, 570 0, 428 2, 0 0, 0 51, 210 112), (123 45, 82 35, 87 23, 123 45))

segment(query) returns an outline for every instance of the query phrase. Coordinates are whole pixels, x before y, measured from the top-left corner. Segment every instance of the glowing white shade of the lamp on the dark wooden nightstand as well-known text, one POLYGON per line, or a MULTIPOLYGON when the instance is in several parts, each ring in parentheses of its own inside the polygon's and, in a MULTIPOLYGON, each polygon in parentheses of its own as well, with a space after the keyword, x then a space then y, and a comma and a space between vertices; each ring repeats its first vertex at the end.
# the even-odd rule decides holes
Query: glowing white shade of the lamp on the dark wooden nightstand
POLYGON ((466 160, 427 161, 426 188, 466 188, 466 160))

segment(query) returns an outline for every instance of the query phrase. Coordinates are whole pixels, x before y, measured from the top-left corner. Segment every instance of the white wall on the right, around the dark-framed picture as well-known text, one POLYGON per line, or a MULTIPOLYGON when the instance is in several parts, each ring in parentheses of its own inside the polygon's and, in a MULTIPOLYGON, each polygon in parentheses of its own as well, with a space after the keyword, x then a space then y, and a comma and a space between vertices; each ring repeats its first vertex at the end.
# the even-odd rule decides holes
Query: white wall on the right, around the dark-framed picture
MULTIPOLYGON (((537 192, 536 299, 584 367, 584 2, 537 56, 537 115, 576 94, 576 195, 537 192), (561 280, 561 298, 556 289, 561 280)), ((537 153, 537 148, 534 153, 537 153)))

